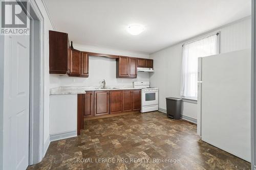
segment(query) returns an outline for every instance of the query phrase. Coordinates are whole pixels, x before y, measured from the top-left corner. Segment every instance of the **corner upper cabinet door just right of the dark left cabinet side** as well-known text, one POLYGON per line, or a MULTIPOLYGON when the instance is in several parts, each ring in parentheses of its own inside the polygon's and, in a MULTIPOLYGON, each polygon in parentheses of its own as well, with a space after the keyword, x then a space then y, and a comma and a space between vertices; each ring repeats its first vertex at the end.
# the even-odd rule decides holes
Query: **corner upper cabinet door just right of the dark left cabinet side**
POLYGON ((80 76, 81 75, 81 52, 75 49, 70 50, 69 58, 69 76, 80 76))

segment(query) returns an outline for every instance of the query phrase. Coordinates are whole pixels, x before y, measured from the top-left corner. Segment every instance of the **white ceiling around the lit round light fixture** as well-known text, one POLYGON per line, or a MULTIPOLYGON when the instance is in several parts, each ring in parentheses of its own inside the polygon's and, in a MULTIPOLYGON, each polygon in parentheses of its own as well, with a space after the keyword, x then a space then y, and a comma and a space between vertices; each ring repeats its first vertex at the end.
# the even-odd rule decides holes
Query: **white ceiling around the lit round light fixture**
POLYGON ((45 0, 56 31, 75 44, 151 54, 249 16, 251 0, 45 0), (145 26, 130 35, 131 24, 145 26))

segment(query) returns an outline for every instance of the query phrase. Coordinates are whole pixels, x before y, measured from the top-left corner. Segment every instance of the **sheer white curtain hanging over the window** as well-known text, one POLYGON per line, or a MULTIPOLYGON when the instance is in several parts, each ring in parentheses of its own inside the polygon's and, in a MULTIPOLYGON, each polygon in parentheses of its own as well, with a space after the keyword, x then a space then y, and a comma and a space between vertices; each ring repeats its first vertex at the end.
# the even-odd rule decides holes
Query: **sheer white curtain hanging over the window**
POLYGON ((212 35, 184 44, 181 71, 181 96, 197 100, 198 57, 218 54, 218 36, 212 35))

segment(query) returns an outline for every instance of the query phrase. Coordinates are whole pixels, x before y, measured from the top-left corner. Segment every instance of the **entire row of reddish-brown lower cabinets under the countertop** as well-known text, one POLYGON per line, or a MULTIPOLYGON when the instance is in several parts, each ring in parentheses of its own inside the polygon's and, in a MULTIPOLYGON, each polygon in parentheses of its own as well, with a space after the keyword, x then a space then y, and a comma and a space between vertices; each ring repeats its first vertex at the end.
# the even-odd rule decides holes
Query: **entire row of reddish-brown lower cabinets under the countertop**
POLYGON ((102 90, 77 94, 77 135, 83 129, 83 118, 140 109, 141 90, 102 90))

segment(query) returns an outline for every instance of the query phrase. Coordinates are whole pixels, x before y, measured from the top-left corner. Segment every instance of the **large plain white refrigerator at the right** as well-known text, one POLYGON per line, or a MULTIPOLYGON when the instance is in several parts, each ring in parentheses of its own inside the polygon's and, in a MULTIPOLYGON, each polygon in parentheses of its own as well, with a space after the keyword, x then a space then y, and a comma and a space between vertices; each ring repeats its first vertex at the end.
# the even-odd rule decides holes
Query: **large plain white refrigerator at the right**
POLYGON ((203 141, 249 162, 250 54, 199 58, 197 125, 203 141))

